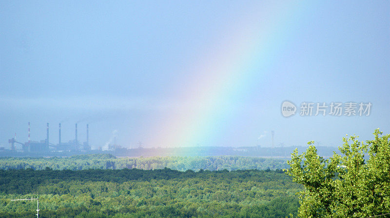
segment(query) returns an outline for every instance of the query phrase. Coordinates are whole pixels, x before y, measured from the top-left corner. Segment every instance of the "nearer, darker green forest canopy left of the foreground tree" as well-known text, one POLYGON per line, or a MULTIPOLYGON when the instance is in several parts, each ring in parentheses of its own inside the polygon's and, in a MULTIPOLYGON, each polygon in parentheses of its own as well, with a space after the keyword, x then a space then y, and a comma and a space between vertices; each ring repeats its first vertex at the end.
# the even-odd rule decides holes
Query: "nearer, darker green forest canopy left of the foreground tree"
POLYGON ((282 170, 0 170, 0 217, 285 218, 303 190, 282 170))

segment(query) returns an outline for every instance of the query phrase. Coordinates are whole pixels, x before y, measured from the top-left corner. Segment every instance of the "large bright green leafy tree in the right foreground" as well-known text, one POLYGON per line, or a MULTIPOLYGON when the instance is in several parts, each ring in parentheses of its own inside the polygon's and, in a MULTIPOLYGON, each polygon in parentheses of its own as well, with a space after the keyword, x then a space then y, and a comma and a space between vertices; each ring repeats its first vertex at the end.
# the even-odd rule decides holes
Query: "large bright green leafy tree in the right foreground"
POLYGON ((306 189, 297 193, 298 217, 390 218, 390 134, 373 134, 366 143, 343 138, 342 155, 329 159, 318 156, 313 141, 303 154, 294 150, 285 171, 306 189))

